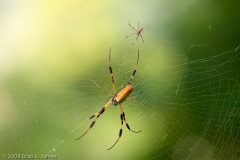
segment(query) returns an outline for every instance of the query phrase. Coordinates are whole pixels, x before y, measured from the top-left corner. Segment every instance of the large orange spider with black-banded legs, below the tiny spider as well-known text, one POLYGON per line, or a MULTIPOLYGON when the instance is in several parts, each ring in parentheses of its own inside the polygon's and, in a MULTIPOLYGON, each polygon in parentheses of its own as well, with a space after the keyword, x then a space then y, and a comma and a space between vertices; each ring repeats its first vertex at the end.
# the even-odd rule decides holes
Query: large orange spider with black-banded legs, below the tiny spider
POLYGON ((138 50, 138 58, 137 58, 137 65, 136 65, 136 68, 133 70, 133 73, 132 73, 132 76, 130 77, 130 80, 128 81, 128 84, 125 88, 123 88, 118 94, 116 94, 116 88, 115 88, 115 85, 114 85, 114 76, 113 76, 113 71, 112 71, 112 67, 111 67, 111 64, 110 64, 110 55, 111 55, 111 48, 110 48, 110 51, 109 51, 109 60, 108 60, 108 67, 109 67, 109 71, 110 71, 110 75, 112 77, 112 87, 113 87, 113 91, 114 93, 113 94, 110 94, 108 91, 106 91, 105 89, 101 88, 99 85, 97 85, 95 83, 95 85, 100 89, 102 90, 103 92, 107 93, 108 95, 112 96, 112 98, 110 99, 110 101, 108 101, 108 103, 103 107, 101 108, 97 113, 93 114, 92 116, 90 116, 89 118, 84 118, 85 120, 90 120, 94 117, 95 120, 91 123, 91 125, 89 126, 89 128, 87 129, 87 131, 85 133, 83 133, 83 135, 79 138, 77 138, 76 140, 79 140, 80 138, 82 138, 96 123, 97 119, 101 116, 101 114, 104 113, 104 111, 110 106, 110 104, 113 104, 114 106, 117 106, 119 104, 120 106, 120 120, 121 120, 121 125, 120 125, 120 130, 119 130, 119 136, 118 136, 118 139, 117 141, 112 145, 112 147, 110 147, 109 149, 107 150, 110 150, 112 149, 115 144, 119 141, 119 139, 121 138, 122 136, 122 126, 123 126, 123 122, 126 124, 128 130, 134 132, 134 133, 139 133, 141 132, 140 131, 133 131, 130 129, 130 126, 129 124, 126 122, 126 117, 125 117, 125 113, 123 111, 123 106, 122 106, 122 103, 126 100, 132 100, 132 99, 135 99, 137 96, 135 97, 132 97, 132 98, 128 98, 130 96, 130 94, 132 93, 133 91, 133 87, 130 85, 134 75, 136 74, 136 71, 137 71, 137 68, 138 68, 138 59, 139 59, 139 50, 138 50))

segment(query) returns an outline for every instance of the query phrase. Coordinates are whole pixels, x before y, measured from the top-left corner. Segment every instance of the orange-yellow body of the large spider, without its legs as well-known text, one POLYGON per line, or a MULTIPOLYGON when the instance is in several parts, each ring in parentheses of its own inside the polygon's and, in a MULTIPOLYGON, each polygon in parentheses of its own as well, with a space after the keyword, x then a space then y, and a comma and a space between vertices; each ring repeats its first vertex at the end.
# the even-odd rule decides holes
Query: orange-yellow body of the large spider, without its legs
POLYGON ((116 97, 113 98, 112 104, 117 106, 118 103, 123 103, 130 96, 133 91, 133 87, 131 85, 127 85, 123 88, 116 97))

